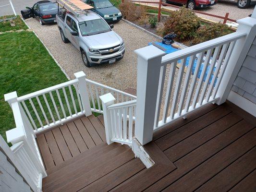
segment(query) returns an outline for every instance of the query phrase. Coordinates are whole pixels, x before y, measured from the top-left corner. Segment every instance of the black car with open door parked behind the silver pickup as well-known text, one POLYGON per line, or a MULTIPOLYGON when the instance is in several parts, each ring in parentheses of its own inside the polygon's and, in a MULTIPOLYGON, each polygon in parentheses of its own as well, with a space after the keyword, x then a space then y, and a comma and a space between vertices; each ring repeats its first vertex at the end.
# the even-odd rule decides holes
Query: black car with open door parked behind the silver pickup
POLYGON ((38 1, 33 7, 26 7, 26 10, 21 11, 24 19, 37 18, 41 25, 56 23, 57 13, 58 6, 49 0, 38 1))

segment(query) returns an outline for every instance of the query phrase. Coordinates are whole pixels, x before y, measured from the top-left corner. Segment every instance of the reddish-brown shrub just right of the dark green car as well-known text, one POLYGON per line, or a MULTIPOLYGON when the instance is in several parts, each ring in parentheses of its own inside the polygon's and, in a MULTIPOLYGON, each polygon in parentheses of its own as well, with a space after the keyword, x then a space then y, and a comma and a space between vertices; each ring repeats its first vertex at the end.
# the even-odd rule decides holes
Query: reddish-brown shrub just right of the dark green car
POLYGON ((136 6, 130 1, 124 1, 119 5, 119 10, 122 12, 124 19, 129 21, 135 21, 146 14, 146 10, 143 6, 136 6))

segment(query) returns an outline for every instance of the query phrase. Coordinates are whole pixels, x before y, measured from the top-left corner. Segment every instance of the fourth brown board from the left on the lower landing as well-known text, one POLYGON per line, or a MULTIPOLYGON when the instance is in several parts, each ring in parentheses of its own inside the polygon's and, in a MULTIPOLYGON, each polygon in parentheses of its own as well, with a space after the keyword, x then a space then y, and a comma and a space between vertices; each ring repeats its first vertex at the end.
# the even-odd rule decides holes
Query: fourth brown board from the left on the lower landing
POLYGON ((72 137, 72 134, 70 133, 67 125, 62 125, 60 127, 61 133, 66 141, 66 143, 68 144, 69 150, 72 154, 72 156, 76 156, 78 154, 80 154, 80 151, 77 147, 77 145, 74 142, 74 139, 72 137))

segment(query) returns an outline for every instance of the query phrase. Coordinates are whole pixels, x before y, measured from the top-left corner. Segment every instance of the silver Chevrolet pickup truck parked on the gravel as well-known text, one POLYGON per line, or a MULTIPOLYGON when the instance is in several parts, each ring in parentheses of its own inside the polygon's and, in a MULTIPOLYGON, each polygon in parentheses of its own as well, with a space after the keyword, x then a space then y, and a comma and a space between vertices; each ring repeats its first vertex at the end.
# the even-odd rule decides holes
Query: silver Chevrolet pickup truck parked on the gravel
POLYGON ((125 48, 122 38, 113 30, 112 24, 92 11, 75 16, 59 12, 57 24, 64 43, 71 42, 78 48, 86 67, 114 63, 123 58, 125 48))

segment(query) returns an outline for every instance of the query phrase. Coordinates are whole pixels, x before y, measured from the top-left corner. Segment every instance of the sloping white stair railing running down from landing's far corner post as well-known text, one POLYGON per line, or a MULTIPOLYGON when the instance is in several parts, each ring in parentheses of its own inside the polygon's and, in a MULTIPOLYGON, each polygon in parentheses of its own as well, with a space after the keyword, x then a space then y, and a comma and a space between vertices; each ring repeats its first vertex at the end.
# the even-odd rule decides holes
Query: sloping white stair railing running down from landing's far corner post
POLYGON ((103 113, 101 102, 99 96, 103 96, 107 93, 111 93, 115 97, 116 103, 121 103, 125 101, 131 101, 136 99, 136 96, 125 93, 118 89, 106 86, 104 84, 99 84, 97 82, 86 79, 87 91, 90 98, 90 103, 92 104, 92 111, 103 113))

